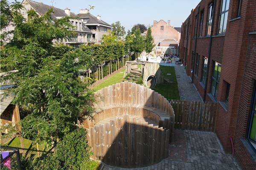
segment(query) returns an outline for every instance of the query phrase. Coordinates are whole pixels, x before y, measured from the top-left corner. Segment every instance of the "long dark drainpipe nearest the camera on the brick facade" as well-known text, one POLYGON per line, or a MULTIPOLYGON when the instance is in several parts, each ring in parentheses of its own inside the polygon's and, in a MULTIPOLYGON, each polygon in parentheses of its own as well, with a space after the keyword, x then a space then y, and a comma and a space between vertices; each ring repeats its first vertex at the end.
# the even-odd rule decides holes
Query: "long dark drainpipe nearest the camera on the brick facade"
POLYGON ((210 64, 211 50, 212 50, 212 34, 213 34, 213 26, 214 26, 215 6, 216 6, 216 0, 213 1, 213 9, 212 9, 212 26, 211 26, 209 49, 208 49, 207 72, 206 72, 206 77, 205 77, 206 82, 205 82, 205 86, 204 86, 204 99, 203 99, 204 102, 205 102, 205 99, 206 99, 207 82, 208 82, 208 74, 209 74, 209 64, 210 64))

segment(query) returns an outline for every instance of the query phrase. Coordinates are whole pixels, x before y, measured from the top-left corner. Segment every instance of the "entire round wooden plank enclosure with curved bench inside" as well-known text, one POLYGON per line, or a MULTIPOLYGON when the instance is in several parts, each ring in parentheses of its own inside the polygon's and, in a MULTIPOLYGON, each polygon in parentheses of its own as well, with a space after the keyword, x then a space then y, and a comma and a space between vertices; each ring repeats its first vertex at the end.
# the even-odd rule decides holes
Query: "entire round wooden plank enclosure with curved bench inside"
POLYGON ((132 82, 108 86, 95 96, 95 112, 82 123, 93 159, 134 168, 168 157, 175 114, 167 99, 132 82))

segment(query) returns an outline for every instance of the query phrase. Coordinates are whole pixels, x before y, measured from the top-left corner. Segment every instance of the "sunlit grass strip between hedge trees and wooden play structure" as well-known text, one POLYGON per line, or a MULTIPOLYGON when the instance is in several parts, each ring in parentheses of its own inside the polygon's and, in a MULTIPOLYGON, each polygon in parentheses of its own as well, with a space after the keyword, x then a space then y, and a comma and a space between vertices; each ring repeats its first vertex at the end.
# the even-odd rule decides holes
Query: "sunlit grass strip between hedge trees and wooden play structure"
POLYGON ((99 83, 98 85, 96 85, 92 89, 95 90, 95 91, 98 91, 102 88, 108 87, 109 85, 113 85, 113 84, 116 84, 118 82, 122 82, 125 68, 122 68, 119 71, 120 72, 112 75, 111 77, 109 77, 105 81, 99 83))

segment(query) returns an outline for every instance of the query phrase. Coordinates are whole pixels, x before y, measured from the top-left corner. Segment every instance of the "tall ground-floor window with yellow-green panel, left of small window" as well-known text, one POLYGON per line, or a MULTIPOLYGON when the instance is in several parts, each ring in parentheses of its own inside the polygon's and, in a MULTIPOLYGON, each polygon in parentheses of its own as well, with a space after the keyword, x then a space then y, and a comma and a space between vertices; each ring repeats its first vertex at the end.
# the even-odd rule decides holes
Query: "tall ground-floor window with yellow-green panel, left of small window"
POLYGON ((221 65, 218 64, 218 62, 213 62, 211 94, 215 100, 217 100, 217 96, 218 96, 218 85, 220 82, 220 76, 221 76, 221 65))

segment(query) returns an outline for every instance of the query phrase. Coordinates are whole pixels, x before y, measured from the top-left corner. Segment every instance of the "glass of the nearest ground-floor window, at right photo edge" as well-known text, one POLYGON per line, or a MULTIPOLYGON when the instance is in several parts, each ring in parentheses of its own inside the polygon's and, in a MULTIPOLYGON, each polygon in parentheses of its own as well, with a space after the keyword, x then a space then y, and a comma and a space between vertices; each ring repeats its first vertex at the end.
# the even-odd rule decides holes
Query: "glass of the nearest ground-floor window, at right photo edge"
POLYGON ((256 149, 256 82, 254 83, 254 91, 253 91, 253 100, 252 100, 252 108, 250 113, 250 124, 249 124, 249 133, 247 138, 250 143, 256 149))

